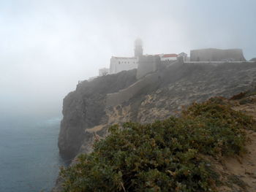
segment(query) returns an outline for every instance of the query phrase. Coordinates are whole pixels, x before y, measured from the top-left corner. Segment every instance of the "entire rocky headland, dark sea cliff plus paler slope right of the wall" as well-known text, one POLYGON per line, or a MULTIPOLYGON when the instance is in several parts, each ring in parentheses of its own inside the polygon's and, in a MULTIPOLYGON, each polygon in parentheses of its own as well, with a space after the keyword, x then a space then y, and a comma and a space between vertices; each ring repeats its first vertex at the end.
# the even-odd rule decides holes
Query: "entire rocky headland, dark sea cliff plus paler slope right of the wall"
POLYGON ((145 84, 129 101, 106 107, 107 93, 132 85, 136 71, 82 82, 64 99, 59 149, 69 158, 91 151, 94 137, 105 137, 108 126, 125 121, 149 123, 165 119, 193 101, 230 97, 256 85, 256 63, 176 64, 159 69, 159 78, 145 84))

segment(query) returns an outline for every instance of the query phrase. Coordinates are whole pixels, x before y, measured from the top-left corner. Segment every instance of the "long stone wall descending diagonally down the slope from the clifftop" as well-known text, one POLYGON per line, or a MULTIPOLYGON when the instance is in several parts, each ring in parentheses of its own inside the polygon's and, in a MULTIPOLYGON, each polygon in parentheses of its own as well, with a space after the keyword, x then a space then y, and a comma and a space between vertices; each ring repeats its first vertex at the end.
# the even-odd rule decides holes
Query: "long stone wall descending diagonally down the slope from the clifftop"
MULTIPOLYGON (((165 80, 168 80, 168 83, 175 82, 176 80, 186 77, 193 70, 196 70, 197 67, 203 67, 203 69, 211 70, 214 69, 212 67, 218 66, 221 64, 227 64, 230 65, 240 65, 240 64, 249 64, 254 63, 253 61, 230 61, 230 62, 224 62, 224 61, 187 61, 182 62, 176 61, 175 63, 172 63, 171 65, 161 65, 164 67, 164 69, 159 69, 157 72, 153 72, 151 74, 147 74, 145 77, 141 78, 134 84, 130 85, 128 88, 122 89, 118 91, 117 93, 109 93, 106 96, 106 107, 112 107, 116 106, 118 104, 121 104, 125 101, 129 101, 129 99, 132 99, 136 95, 143 93, 146 88, 154 88, 158 86, 160 83, 165 83, 165 80), (197 67, 195 67, 197 66, 197 67)), ((161 67, 160 67, 161 68, 161 67)))

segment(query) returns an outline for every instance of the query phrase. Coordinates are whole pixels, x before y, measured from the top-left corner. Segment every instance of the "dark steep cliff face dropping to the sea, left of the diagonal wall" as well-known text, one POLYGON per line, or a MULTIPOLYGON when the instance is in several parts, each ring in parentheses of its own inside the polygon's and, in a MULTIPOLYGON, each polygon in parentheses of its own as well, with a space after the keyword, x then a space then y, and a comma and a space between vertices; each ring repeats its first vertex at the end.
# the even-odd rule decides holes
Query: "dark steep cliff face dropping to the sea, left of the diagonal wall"
POLYGON ((59 133, 59 150, 64 158, 72 159, 84 140, 92 134, 85 130, 105 123, 105 96, 135 82, 136 70, 98 77, 88 82, 80 82, 75 91, 63 101, 64 115, 59 133))

